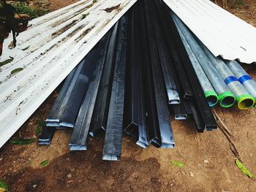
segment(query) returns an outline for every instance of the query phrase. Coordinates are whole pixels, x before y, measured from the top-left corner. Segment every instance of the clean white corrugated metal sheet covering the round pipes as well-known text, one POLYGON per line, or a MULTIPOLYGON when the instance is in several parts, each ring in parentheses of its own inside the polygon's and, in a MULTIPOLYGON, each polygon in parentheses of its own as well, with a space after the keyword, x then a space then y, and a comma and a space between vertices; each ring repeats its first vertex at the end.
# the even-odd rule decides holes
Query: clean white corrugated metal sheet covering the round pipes
POLYGON ((256 28, 209 0, 164 0, 215 56, 256 61, 256 28))

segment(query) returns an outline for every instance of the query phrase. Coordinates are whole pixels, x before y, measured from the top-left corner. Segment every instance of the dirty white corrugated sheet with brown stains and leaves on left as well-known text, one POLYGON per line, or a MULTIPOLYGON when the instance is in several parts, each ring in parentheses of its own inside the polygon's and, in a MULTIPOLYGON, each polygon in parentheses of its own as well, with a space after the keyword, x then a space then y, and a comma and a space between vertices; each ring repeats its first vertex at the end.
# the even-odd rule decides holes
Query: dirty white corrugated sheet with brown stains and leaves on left
POLYGON ((14 50, 7 49, 11 38, 4 42, 0 61, 14 60, 0 67, 0 147, 135 1, 78 1, 32 20, 14 50), (23 70, 11 74, 18 68, 23 70))

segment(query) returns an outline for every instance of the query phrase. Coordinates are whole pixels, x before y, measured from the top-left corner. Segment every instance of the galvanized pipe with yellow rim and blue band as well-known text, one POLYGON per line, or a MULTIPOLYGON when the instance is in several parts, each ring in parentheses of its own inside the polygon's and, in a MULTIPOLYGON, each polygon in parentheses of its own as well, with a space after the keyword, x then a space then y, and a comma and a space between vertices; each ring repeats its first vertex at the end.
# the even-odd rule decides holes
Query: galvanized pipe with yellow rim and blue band
POLYGON ((241 82, 238 81, 238 78, 233 74, 233 72, 227 67, 227 65, 222 61, 222 59, 215 57, 207 48, 197 39, 199 45, 203 48, 203 51, 206 53, 208 58, 211 61, 211 64, 217 69, 220 76, 226 83, 227 87, 230 88, 230 91, 236 96, 236 102, 238 104, 238 109, 247 110, 255 104, 255 99, 246 91, 241 82))

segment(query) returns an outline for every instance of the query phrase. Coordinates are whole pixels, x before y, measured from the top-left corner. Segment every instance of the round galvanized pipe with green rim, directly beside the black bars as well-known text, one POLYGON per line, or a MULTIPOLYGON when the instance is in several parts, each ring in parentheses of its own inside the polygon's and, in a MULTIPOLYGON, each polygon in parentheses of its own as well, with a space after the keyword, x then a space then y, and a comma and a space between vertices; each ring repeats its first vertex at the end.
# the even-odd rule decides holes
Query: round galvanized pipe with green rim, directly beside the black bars
POLYGON ((197 74, 197 78, 200 81, 200 85, 203 88, 203 92, 205 93, 206 99, 208 101, 208 104, 210 107, 214 107, 218 103, 218 95, 214 91, 214 88, 211 85, 211 82, 208 80, 205 72, 203 71, 202 67, 200 66, 199 62, 197 61, 197 58, 195 54, 193 53, 191 47, 189 46, 189 43, 187 42, 187 39, 184 37, 183 32, 181 31, 181 28, 176 24, 176 27, 178 29, 178 34, 181 37, 181 40, 184 44, 185 49, 187 50, 187 54, 189 55, 189 59, 195 69, 195 73, 197 74))

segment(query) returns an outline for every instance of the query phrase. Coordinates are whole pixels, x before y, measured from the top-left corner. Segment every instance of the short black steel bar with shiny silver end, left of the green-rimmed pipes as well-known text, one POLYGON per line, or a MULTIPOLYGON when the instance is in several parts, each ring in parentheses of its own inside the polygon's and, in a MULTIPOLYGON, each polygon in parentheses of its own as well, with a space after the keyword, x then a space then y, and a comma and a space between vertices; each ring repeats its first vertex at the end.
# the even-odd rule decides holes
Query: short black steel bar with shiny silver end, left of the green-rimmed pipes
POLYGON ((165 37, 161 31, 161 26, 159 25, 156 17, 152 19, 154 35, 157 39, 157 50, 159 54, 159 60, 162 67, 162 74, 165 80, 165 89, 167 91, 167 98, 169 104, 179 104, 180 98, 178 96, 176 82, 173 77, 173 70, 170 67, 170 63, 172 62, 172 58, 170 55, 170 51, 165 42, 165 37))

